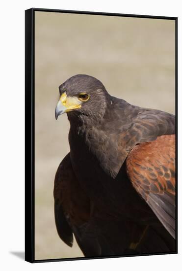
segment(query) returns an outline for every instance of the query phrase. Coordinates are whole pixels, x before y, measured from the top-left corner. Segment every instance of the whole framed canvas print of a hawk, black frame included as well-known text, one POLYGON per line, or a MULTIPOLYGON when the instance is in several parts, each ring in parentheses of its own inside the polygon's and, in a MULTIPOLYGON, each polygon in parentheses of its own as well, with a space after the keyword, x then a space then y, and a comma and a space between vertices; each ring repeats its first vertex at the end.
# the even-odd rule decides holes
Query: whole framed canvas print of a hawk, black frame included
POLYGON ((176 96, 176 17, 26 10, 26 261, 177 253, 176 96))

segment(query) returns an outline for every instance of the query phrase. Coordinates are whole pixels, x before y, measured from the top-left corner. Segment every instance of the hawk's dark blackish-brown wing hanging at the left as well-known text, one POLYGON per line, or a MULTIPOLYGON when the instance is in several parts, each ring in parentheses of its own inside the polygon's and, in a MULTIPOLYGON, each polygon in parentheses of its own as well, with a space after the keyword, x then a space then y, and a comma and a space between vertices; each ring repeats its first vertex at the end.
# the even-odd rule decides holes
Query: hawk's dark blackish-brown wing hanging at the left
POLYGON ((59 237, 73 245, 73 233, 81 247, 81 238, 90 217, 90 200, 86 197, 72 168, 70 154, 60 163, 54 180, 54 216, 59 237))

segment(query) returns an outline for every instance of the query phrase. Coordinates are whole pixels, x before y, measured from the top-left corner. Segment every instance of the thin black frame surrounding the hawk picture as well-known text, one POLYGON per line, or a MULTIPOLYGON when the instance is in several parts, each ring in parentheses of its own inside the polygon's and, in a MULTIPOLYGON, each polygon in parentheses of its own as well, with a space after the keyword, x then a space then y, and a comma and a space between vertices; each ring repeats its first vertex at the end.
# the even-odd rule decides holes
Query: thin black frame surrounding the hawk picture
MULTIPOLYGON (((178 253, 178 231, 176 232, 176 251, 170 253, 152 253, 139 255, 116 255, 109 257, 79 257, 79 258, 63 258, 63 259, 42 259, 35 260, 34 250, 34 214, 35 214, 35 84, 34 84, 34 33, 35 33, 35 11, 44 12, 59 12, 59 13, 73 13, 73 14, 88 14, 88 15, 107 15, 107 16, 121 16, 121 17, 137 17, 137 18, 153 18, 165 19, 175 21, 175 98, 176 98, 176 158, 178 158, 178 18, 165 16, 148 16, 148 15, 133 15, 133 14, 118 14, 118 13, 103 13, 103 12, 87 12, 74 10, 58 10, 58 9, 44 9, 44 8, 30 8, 25 11, 25 260, 30 263, 39 262, 54 262, 54 261, 68 261, 68 260, 85 260, 85 259, 100 259, 100 258, 116 258, 116 257, 131 257, 131 256, 146 256, 146 255, 161 255, 161 254, 176 254, 178 253)), ((176 168, 178 159, 176 159, 176 168)), ((177 177, 177 173, 176 173, 177 177)), ((178 195, 178 182, 176 185, 176 192, 178 195)), ((178 197, 176 197, 176 228, 178 224, 178 197)))

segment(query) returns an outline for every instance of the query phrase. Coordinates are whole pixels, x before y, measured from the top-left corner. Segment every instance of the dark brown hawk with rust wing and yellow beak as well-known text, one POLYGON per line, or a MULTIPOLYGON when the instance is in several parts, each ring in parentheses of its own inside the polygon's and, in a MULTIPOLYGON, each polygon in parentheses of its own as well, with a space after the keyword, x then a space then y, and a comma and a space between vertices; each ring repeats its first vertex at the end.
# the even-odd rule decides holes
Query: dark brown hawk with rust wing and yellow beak
POLYGON ((54 181, 59 237, 85 256, 175 252, 175 116, 112 97, 98 79, 59 86, 70 153, 54 181))

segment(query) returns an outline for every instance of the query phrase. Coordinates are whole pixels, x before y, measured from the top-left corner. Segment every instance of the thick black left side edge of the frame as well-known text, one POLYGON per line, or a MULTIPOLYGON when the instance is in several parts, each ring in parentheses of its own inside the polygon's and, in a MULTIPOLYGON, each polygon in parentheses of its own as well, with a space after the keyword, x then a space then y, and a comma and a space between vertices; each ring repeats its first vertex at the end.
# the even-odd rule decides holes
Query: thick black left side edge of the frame
POLYGON ((34 262, 34 12, 25 11, 25 261, 34 262))

